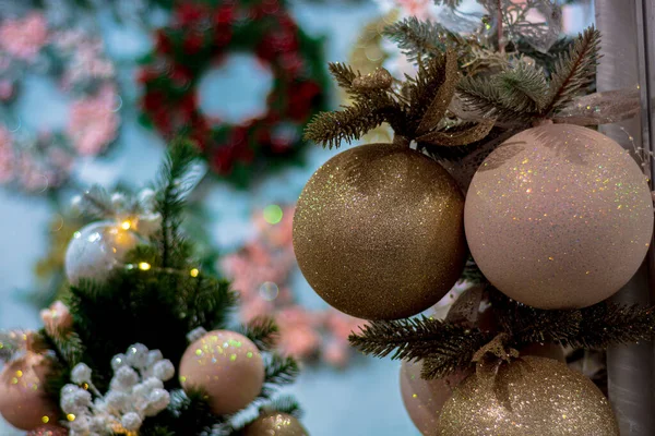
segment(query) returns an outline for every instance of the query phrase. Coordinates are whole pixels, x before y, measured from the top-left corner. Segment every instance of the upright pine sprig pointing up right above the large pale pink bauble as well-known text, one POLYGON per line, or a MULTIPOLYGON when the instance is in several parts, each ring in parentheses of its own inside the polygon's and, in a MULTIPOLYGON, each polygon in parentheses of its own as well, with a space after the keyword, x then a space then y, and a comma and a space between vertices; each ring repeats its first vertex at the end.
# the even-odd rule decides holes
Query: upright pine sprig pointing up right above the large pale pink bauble
POLYGON ((569 50, 556 61, 550 76, 548 105, 544 110, 546 116, 564 107, 593 82, 598 63, 599 44, 600 33, 592 26, 579 35, 569 50))

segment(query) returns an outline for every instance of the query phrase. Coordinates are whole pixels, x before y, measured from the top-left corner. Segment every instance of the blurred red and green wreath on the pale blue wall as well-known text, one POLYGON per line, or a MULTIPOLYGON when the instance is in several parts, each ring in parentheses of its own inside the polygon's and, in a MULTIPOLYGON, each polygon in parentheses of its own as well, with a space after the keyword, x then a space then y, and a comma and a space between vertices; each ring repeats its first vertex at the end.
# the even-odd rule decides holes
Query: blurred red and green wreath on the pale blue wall
POLYGON ((157 31, 139 77, 145 119, 167 138, 194 140, 214 171, 247 185, 251 175, 293 160, 306 145, 303 125, 325 102, 320 46, 282 0, 179 4, 172 24, 157 31), (253 52, 274 77, 266 112, 242 124, 209 118, 198 106, 200 76, 233 51, 253 52))

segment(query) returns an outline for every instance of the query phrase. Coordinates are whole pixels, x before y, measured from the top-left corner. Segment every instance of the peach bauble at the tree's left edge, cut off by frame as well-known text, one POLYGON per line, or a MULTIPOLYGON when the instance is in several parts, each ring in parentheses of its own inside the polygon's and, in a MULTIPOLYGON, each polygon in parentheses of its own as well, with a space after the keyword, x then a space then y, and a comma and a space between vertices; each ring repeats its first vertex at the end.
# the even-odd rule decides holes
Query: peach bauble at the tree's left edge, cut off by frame
POLYGON ((48 360, 33 351, 7 363, 0 374, 0 414, 7 422, 25 431, 56 422, 57 404, 44 389, 49 371, 48 360))

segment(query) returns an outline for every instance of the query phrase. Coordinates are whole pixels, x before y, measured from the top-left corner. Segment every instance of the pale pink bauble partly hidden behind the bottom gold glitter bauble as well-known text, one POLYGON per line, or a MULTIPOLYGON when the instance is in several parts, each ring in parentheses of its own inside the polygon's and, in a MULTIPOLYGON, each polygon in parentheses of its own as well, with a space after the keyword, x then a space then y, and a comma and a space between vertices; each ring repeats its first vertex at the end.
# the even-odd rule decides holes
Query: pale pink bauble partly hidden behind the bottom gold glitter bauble
POLYGON ((422 435, 433 435, 439 413, 457 385, 473 374, 473 370, 457 371, 443 378, 420 378, 420 362, 403 362, 401 395, 409 417, 422 435))

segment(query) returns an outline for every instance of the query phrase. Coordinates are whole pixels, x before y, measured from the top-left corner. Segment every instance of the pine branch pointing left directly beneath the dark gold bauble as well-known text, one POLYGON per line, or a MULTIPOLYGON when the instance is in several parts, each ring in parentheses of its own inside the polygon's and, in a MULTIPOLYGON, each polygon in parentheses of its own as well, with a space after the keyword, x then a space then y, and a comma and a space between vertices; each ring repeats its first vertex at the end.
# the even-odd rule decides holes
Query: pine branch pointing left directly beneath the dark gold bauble
MULTIPOLYGON (((440 359, 440 367, 456 367, 457 362, 473 353, 489 339, 477 328, 431 319, 426 316, 396 320, 376 320, 364 326, 358 335, 350 335, 350 344, 365 354, 391 359, 440 359)), ((471 362, 471 360, 468 360, 471 362)))

